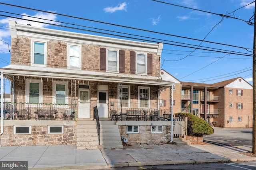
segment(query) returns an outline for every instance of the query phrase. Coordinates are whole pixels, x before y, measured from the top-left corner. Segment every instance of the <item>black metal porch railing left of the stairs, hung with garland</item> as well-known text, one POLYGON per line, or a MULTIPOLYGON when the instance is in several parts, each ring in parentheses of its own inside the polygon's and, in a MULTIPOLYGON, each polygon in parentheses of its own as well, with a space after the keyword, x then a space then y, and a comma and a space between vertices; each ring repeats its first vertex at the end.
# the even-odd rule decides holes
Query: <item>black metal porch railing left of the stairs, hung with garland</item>
POLYGON ((76 104, 4 103, 4 119, 76 120, 76 104))

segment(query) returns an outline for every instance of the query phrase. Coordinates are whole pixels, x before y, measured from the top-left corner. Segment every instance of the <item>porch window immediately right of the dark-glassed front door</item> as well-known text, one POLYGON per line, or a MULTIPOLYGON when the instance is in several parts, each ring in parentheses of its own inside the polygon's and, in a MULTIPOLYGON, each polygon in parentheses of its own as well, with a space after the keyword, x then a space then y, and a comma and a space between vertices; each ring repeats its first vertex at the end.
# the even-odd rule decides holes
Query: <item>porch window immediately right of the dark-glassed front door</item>
POLYGON ((119 90, 119 107, 126 107, 129 108, 130 107, 130 86, 122 86, 122 88, 120 88, 119 90))

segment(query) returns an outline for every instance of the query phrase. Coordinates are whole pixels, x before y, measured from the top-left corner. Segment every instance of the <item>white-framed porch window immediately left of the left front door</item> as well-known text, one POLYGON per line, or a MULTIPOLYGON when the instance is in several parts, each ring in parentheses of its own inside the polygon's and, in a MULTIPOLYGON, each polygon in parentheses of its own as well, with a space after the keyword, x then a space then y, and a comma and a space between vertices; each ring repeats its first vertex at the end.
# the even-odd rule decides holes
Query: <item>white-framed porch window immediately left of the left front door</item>
POLYGON ((68 82, 53 81, 53 103, 68 104, 68 82))

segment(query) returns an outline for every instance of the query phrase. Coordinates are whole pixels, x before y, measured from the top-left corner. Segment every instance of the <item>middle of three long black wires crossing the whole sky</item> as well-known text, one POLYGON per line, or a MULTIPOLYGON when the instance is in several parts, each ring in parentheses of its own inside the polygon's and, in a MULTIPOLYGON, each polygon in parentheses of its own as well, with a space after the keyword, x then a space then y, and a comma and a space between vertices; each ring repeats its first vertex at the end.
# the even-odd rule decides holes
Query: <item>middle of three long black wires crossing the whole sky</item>
MULTIPOLYGON (((0 11, 0 12, 4 12, 4 11, 0 11)), ((157 39, 157 38, 153 38, 153 37, 146 37, 146 36, 142 36, 142 35, 135 35, 135 34, 130 34, 130 33, 122 33, 122 32, 111 31, 111 30, 107 30, 107 29, 88 27, 88 26, 84 26, 84 25, 78 25, 78 24, 67 23, 67 22, 62 22, 62 21, 48 20, 48 19, 44 19, 44 18, 38 18, 38 17, 27 16, 27 15, 22 15, 22 14, 15 14, 15 13, 12 13, 12 12, 4 12, 4 13, 20 15, 20 16, 25 16, 25 17, 30 17, 30 18, 36 18, 36 19, 40 19, 40 20, 47 20, 47 21, 52 21, 52 22, 58 22, 58 23, 65 23, 65 24, 69 24, 69 25, 76 25, 76 26, 80 26, 80 27, 87 27, 87 28, 91 28, 91 29, 98 29, 98 30, 101 30, 101 31, 109 31, 109 32, 120 33, 120 34, 125 34, 125 35, 132 35, 132 36, 137 36, 137 37, 150 38, 150 39, 155 39, 155 40, 159 40, 159 41, 167 41, 167 42, 179 43, 179 44, 184 44, 184 45, 191 45, 191 46, 196 46, 196 47, 203 47, 203 48, 209 48, 209 49, 229 51, 229 50, 217 49, 217 48, 212 48, 212 47, 205 47, 205 46, 200 46, 200 45, 192 45, 192 44, 180 43, 180 42, 176 42, 176 41, 169 41, 169 40, 165 40, 165 39, 157 39)), ((22 18, 20 18, 20 19, 22 20, 22 18)), ((118 35, 116 35, 116 36, 118 36, 118 35)), ((132 38, 132 37, 130 37, 130 38, 132 38)), ((202 44, 202 43, 200 43, 200 44, 202 44)), ((248 53, 242 53, 242 52, 236 52, 236 51, 230 51, 230 52, 241 53, 241 54, 248 54, 248 53)))

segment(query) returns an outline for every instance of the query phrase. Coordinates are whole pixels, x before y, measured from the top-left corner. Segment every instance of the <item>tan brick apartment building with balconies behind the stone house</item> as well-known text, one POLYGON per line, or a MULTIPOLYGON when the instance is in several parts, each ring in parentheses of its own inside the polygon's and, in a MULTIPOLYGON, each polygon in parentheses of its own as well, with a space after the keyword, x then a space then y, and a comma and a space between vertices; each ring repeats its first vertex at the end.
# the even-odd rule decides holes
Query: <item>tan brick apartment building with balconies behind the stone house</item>
MULTIPOLYGON (((180 82, 165 70, 161 76, 176 83, 174 113, 193 113, 216 127, 252 127, 252 85, 243 78, 204 84, 180 82)), ((171 108, 171 93, 170 88, 161 92, 161 108, 171 108)))

